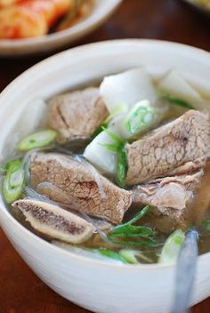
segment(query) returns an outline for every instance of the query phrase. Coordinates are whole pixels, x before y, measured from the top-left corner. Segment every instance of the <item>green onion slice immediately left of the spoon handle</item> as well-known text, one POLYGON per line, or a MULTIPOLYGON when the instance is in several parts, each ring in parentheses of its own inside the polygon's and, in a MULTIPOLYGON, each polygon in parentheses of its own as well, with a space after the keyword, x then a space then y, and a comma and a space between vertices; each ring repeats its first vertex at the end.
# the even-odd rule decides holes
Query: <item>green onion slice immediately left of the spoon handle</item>
POLYGON ((174 233, 167 238, 158 263, 174 263, 180 253, 184 237, 185 235, 182 229, 176 229, 174 233))

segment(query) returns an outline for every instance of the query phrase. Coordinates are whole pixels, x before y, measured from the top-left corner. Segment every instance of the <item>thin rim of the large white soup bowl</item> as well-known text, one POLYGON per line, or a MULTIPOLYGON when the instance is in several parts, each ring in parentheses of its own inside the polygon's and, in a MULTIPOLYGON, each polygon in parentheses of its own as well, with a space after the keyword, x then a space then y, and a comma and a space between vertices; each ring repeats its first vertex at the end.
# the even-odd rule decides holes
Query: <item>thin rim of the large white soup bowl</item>
MULTIPOLYGON (((95 48, 101 48, 104 45, 108 45, 108 44, 112 44, 113 46, 116 45, 121 45, 121 44, 153 44, 153 45, 165 45, 165 46, 171 46, 172 48, 179 48, 179 49, 184 49, 184 50, 188 50, 188 52, 195 52, 195 53, 199 53, 200 56, 206 56, 209 60, 210 60, 210 52, 206 52, 205 50, 199 49, 197 47, 193 47, 190 46, 188 44, 179 44, 179 43, 175 43, 175 42, 169 42, 169 41, 164 41, 164 40, 156 40, 156 39, 139 39, 139 38, 128 38, 128 39, 117 39, 117 40, 106 40, 106 41, 101 41, 101 42, 97 42, 97 43, 92 43, 92 44, 83 44, 81 46, 76 46, 74 48, 70 48, 66 51, 63 52, 59 52, 56 53, 54 55, 52 55, 51 57, 48 57, 44 60, 39 61, 38 63, 36 63, 34 66, 28 68, 27 70, 25 70, 22 74, 20 74, 20 76, 17 76, 14 80, 12 80, 12 82, 10 84, 8 84, 4 90, 0 93, 0 104, 1 101, 4 100, 4 97, 7 94, 10 94, 11 89, 13 88, 13 86, 16 86, 18 84, 21 84, 22 80, 24 79, 24 77, 29 77, 30 75, 33 75, 34 73, 36 73, 37 71, 39 71, 40 68, 44 66, 49 66, 51 63, 54 63, 54 61, 57 61, 58 59, 60 59, 62 56, 65 55, 69 55, 69 53, 75 53, 77 54, 77 52, 81 52, 81 51, 85 51, 88 49, 95 49, 95 48)), ((2 202, 4 204, 4 200, 2 195, 0 194, 0 197, 2 199, 2 202)), ((32 240, 36 241, 38 244, 40 245, 44 245, 47 249, 52 249, 52 251, 55 251, 55 253, 61 253, 63 255, 65 255, 66 257, 71 257, 73 259, 80 260, 80 261, 85 261, 88 263, 92 263, 92 264, 97 264, 98 266, 107 266, 109 268, 113 268, 113 269, 128 269, 128 270, 135 270, 135 269, 174 269, 176 264, 159 264, 159 263, 151 263, 151 264, 138 264, 137 266, 133 266, 133 264, 117 264, 117 263, 111 263, 109 261, 103 261, 103 260, 98 260, 96 258, 91 258, 91 257, 87 257, 84 255, 80 255, 77 253, 73 253, 70 252, 68 250, 65 250, 63 248, 61 248, 60 246, 57 245, 52 245, 52 243, 44 240, 42 237, 38 237, 36 234, 34 234, 32 231, 30 231, 29 229, 27 229, 26 227, 24 227, 19 221, 17 221, 12 214, 7 210, 5 205, 0 205, 0 222, 1 222, 1 214, 4 214, 4 217, 10 221, 12 224, 14 224, 14 226, 18 229, 18 231, 20 231, 21 233, 23 233, 25 236, 27 237, 31 237, 32 240)), ((0 223, 1 226, 1 223, 0 223)), ((3 228, 4 229, 4 228, 3 228)), ((206 261, 206 259, 208 259, 208 261, 210 260, 210 252, 209 253, 203 253, 201 255, 198 256, 198 261, 206 261)))

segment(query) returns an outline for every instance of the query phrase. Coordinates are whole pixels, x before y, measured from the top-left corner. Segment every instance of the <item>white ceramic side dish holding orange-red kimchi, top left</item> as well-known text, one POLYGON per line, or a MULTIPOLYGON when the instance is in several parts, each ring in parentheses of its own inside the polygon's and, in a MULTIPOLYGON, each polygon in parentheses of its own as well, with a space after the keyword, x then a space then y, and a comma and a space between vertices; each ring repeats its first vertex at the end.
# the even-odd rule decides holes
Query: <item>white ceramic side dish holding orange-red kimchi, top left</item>
POLYGON ((0 56, 48 52, 70 44, 101 26, 121 2, 122 0, 95 0, 90 16, 58 33, 20 40, 0 39, 0 56))

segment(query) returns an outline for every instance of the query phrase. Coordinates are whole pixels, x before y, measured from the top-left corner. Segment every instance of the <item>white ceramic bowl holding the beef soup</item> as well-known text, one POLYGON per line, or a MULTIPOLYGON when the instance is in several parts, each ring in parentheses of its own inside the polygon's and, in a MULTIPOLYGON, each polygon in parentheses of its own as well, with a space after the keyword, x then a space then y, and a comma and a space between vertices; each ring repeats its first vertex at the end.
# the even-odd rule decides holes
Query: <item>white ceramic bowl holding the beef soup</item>
MULTIPOLYGON (((119 40, 61 52, 28 69, 0 96, 0 154, 11 148, 11 133, 30 100, 44 99, 126 68, 145 66, 158 77, 176 68, 209 96, 210 54, 182 44, 119 40)), ((24 114, 24 113, 23 113, 24 114)), ((0 198, 5 234, 38 277, 78 305, 101 313, 166 313, 174 294, 174 266, 119 266, 53 246, 12 218, 0 198)), ((191 304, 210 295, 210 253, 199 257, 191 304)), ((9 279, 9 278, 8 278, 9 279)))

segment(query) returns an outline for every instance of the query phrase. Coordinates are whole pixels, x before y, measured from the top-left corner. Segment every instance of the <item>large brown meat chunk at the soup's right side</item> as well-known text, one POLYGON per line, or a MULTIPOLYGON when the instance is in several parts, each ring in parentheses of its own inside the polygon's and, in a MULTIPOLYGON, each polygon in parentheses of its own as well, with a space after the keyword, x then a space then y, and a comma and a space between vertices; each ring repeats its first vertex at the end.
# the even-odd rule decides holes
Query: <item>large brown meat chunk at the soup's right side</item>
POLYGON ((136 185, 205 165, 210 143, 206 115, 190 110, 173 122, 126 144, 126 184, 136 185))

